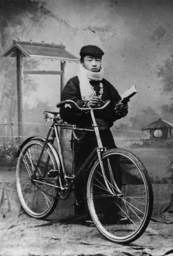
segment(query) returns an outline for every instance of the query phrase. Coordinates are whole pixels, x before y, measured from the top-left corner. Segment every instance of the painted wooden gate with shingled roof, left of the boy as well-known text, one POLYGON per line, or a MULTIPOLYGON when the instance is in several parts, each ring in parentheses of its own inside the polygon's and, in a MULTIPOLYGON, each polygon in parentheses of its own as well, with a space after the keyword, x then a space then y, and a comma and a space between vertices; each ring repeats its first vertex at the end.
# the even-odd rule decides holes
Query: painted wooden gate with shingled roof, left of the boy
MULTIPOLYGON (((16 67, 17 67, 17 107, 18 107, 18 136, 21 138, 24 135, 24 95, 23 95, 23 75, 61 75, 61 93, 65 86, 64 84, 64 71, 66 61, 78 62, 79 58, 72 55, 65 50, 65 46, 53 44, 45 44, 43 41, 32 42, 23 41, 20 39, 14 39, 13 45, 1 53, 2 57, 16 57, 16 67), (60 71, 40 71, 40 70, 24 70, 23 69, 23 57, 33 58, 33 59, 57 59, 61 62, 60 71)), ((63 132, 61 136, 63 136, 63 132)))

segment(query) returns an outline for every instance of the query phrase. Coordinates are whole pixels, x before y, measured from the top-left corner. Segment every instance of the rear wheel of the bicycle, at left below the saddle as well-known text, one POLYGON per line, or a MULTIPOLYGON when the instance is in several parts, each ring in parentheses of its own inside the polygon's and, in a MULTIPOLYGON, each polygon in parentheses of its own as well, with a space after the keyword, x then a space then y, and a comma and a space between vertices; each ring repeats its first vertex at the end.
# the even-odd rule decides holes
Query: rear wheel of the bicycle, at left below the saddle
POLYGON ((46 145, 36 173, 36 181, 31 177, 37 165, 44 140, 32 139, 20 150, 16 166, 16 188, 24 211, 31 217, 44 219, 52 214, 58 203, 57 177, 48 177, 50 170, 58 170, 57 161, 50 146, 46 145), (41 184, 39 181, 47 183, 41 184), (50 185, 48 185, 50 184, 50 185))

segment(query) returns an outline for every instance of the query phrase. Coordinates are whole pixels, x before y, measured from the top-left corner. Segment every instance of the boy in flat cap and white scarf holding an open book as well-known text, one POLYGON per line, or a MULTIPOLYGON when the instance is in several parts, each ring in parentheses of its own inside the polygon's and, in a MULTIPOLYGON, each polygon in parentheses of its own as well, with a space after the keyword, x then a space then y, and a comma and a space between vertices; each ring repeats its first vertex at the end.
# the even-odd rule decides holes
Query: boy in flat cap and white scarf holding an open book
MULTIPOLYGON (((94 115, 100 129, 100 136, 104 147, 115 148, 114 139, 110 131, 113 122, 128 113, 127 102, 120 103, 120 95, 110 82, 103 78, 102 56, 104 52, 97 46, 84 46, 80 51, 80 67, 78 75, 71 78, 62 92, 61 100, 73 100, 80 107, 89 106, 96 108, 103 101, 110 100, 110 103, 103 110, 95 110, 94 115)), ((90 127, 90 114, 79 115, 76 110, 62 107, 61 118, 79 127, 90 127)), ((96 146, 95 134, 88 132, 79 142, 75 142, 75 172, 81 167, 90 153, 96 146)), ((77 203, 75 204, 76 214, 85 214, 84 187, 87 172, 82 172, 81 177, 75 184, 77 203)))

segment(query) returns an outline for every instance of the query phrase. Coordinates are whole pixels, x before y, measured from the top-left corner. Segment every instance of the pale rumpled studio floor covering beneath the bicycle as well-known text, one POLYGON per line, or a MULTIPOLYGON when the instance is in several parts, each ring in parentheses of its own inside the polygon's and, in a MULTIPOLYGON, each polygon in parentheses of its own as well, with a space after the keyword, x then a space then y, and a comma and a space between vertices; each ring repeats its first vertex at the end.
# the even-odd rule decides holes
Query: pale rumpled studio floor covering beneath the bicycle
POLYGON ((22 211, 16 194, 15 169, 0 169, 0 255, 173 255, 172 184, 153 184, 154 210, 145 233, 134 243, 107 241, 95 227, 73 210, 73 196, 58 203, 47 220, 36 220, 22 211))

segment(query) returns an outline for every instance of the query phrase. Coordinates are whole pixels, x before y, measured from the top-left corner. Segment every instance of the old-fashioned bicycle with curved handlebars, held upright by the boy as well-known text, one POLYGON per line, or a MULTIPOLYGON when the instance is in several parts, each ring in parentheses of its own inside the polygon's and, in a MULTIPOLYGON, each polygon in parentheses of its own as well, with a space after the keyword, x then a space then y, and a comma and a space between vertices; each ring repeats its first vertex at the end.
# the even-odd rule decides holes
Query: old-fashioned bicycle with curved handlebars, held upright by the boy
MULTIPOLYGON (((95 109, 102 110, 109 102, 95 109)), ((63 122, 58 112, 44 112, 45 120, 52 121, 47 137, 28 138, 17 153, 16 188, 22 208, 33 218, 47 218, 54 211, 58 200, 66 200, 74 191, 75 181, 88 166, 85 199, 95 227, 112 242, 126 244, 135 241, 148 226, 153 209, 152 184, 144 165, 125 149, 106 150, 103 147, 94 117, 95 109, 79 108, 72 100, 62 101, 57 107, 65 104, 81 113, 90 112, 93 125, 79 128, 63 122), (74 133, 95 132, 98 146, 77 174, 74 173, 74 163, 72 175, 66 173, 59 127, 74 133), (120 181, 116 175, 119 171, 120 181), (128 222, 117 221, 117 212, 126 217, 128 222)))

